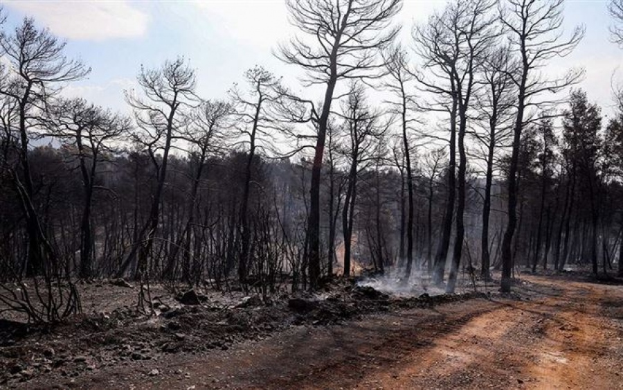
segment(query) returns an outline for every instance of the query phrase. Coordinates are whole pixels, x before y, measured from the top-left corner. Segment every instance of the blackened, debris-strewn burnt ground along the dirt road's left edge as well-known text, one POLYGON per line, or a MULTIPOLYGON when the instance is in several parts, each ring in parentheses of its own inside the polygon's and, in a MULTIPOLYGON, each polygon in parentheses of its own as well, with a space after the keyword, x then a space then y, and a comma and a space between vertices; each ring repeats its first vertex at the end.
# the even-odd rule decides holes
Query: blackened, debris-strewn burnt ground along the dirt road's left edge
MULTIPOLYGON (((243 294, 208 288, 171 294, 152 286, 154 314, 136 309, 138 287, 119 281, 80 286, 83 314, 53 328, 30 326, 24 317, 0 314, 0 384, 21 387, 32 380, 70 380, 118 365, 195 355, 260 340, 292 326, 326 326, 365 314, 485 296, 444 295, 425 283, 401 287, 398 273, 376 278, 336 278, 315 294, 243 294), (401 287, 401 288, 400 288, 401 287)), ((17 288, 17 287, 16 287, 17 288)))

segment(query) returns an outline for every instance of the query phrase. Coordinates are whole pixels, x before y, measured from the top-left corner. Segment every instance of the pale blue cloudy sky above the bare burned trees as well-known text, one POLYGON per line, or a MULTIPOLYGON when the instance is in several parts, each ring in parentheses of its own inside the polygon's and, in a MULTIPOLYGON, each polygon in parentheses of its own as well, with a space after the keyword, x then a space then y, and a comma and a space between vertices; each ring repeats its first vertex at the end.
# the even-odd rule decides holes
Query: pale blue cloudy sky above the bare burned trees
MULTIPOLYGON (((67 42, 66 54, 91 67, 88 78, 75 82, 66 94, 82 96, 98 105, 127 112, 123 90, 135 85, 145 67, 159 67, 178 55, 196 69, 202 98, 225 98, 246 69, 262 65, 295 91, 299 69, 285 65, 274 55, 279 42, 296 30, 289 25, 284 0, 5 0, 8 28, 24 17, 67 42)), ((441 9, 442 0, 404 0, 397 17, 403 24, 401 39, 412 44, 414 23, 426 21, 441 9)), ((603 0, 567 0, 565 29, 584 24, 586 36, 575 52, 552 63, 548 71, 563 72, 584 67, 580 87, 590 100, 612 108, 611 83, 623 80, 623 50, 610 42, 611 24, 603 0)), ((312 100, 318 96, 305 96, 312 100)))

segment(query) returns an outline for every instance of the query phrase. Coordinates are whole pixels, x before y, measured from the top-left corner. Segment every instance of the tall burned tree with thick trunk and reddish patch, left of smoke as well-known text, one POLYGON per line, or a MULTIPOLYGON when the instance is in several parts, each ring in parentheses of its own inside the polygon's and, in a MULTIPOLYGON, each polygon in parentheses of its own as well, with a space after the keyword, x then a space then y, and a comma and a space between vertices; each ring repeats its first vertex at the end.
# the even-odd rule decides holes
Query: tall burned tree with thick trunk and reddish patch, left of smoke
POLYGON ((320 277, 320 171, 327 125, 338 80, 377 76, 383 67, 377 56, 398 33, 390 28, 401 8, 400 0, 289 0, 291 20, 302 33, 279 57, 306 71, 308 85, 324 85, 325 96, 318 116, 316 148, 311 168, 308 221, 308 267, 311 288, 320 277))

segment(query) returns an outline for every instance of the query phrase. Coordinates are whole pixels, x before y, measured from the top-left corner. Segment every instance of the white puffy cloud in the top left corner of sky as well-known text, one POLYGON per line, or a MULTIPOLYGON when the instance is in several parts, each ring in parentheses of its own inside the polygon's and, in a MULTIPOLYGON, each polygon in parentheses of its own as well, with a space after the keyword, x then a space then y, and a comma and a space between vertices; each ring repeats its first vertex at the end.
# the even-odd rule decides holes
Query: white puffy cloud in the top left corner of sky
POLYGON ((125 0, 8 1, 8 8, 23 12, 68 39, 103 41, 141 37, 147 32, 149 17, 125 0))

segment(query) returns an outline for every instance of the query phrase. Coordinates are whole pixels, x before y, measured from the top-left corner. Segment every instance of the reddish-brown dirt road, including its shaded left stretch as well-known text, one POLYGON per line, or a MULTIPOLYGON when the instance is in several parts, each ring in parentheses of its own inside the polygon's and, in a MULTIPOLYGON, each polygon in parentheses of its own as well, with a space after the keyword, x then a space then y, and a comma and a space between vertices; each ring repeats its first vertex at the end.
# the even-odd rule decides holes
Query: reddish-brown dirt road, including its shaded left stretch
POLYGON ((623 287, 536 276, 524 280, 514 299, 475 299, 433 310, 378 314, 343 326, 301 326, 228 351, 174 355, 59 384, 126 389, 623 389, 623 287))

